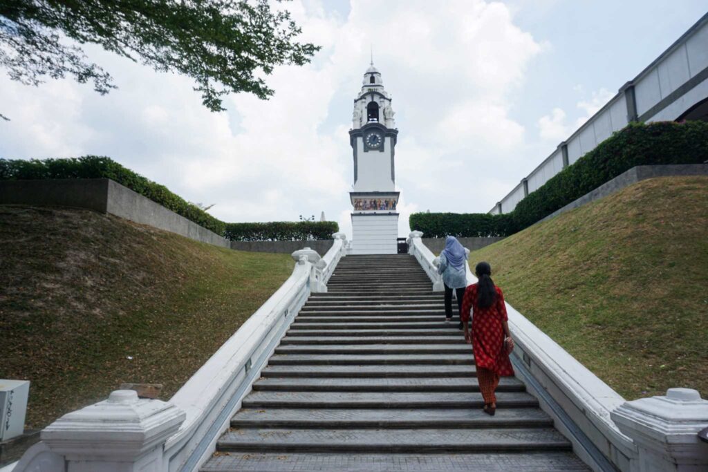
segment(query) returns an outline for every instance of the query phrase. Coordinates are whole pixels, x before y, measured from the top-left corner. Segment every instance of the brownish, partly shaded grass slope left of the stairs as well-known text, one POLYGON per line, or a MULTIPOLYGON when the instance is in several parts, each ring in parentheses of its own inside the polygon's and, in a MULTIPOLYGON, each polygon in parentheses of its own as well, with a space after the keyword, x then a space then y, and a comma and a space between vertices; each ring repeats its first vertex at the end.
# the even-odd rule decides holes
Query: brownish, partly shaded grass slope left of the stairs
POLYGON ((0 206, 0 379, 32 382, 35 428, 122 382, 169 398, 292 267, 110 215, 0 206))

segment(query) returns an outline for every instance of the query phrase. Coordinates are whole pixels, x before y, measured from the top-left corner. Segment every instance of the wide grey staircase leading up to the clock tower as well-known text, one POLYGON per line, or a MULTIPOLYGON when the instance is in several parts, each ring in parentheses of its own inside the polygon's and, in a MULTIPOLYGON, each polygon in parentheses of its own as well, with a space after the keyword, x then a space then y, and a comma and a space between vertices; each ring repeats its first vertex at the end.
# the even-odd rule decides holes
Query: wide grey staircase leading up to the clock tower
POLYGON ((588 471, 503 378, 490 417, 472 348, 408 255, 350 255, 270 357, 202 472, 588 471))

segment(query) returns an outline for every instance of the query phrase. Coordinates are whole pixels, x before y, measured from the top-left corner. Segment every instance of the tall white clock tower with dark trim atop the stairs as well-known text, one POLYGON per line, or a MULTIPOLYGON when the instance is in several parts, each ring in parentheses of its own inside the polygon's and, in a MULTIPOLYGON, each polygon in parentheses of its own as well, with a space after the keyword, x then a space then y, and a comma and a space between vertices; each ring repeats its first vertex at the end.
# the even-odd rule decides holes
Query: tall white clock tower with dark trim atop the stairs
POLYGON ((354 99, 352 129, 354 185, 349 192, 352 212, 353 254, 397 252, 399 192, 396 192, 395 128, 391 96, 381 74, 371 64, 354 99))

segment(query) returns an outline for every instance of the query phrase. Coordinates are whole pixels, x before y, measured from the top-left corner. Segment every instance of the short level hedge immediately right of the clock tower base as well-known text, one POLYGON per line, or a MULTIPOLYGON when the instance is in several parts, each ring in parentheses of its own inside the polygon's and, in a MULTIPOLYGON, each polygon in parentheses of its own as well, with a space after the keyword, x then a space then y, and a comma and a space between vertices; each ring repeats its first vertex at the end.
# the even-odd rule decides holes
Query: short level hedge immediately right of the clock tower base
POLYGON ((508 214, 413 213, 409 224, 411 229, 423 231, 426 238, 508 236, 514 232, 508 214))

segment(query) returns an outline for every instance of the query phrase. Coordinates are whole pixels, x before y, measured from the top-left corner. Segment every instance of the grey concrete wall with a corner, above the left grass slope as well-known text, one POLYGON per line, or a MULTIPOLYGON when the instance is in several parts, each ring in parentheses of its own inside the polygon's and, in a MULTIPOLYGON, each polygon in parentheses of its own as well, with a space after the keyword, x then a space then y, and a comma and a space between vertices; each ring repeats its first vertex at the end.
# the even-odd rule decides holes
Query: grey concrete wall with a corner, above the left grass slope
MULTIPOLYGON (((108 178, 1 180, 0 204, 76 207, 229 248, 230 241, 108 178)), ((330 241, 331 244, 331 241, 330 241)))

